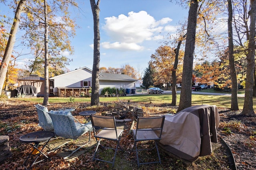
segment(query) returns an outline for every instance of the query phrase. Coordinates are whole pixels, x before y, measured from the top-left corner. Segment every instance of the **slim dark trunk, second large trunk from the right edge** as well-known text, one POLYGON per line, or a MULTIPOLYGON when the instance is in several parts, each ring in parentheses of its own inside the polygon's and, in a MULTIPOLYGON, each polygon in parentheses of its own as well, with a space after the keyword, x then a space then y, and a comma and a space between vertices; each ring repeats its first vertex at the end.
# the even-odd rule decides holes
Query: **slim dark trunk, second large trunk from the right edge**
POLYGON ((236 78, 236 68, 234 61, 234 45, 233 45, 233 28, 232 28, 232 0, 228 0, 228 59, 230 67, 230 77, 231 77, 231 110, 238 110, 238 100, 237 100, 237 78, 236 78))

